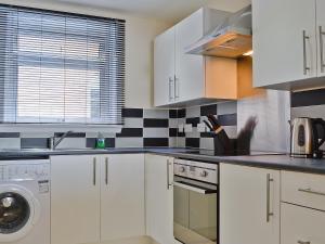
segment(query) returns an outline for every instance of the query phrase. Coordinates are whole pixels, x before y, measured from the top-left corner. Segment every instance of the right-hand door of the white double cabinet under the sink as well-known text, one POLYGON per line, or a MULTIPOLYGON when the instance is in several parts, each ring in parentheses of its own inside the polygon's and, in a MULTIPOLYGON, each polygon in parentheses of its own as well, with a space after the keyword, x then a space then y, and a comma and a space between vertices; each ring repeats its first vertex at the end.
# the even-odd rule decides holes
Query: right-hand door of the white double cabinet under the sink
POLYGON ((144 235, 144 155, 107 155, 101 166, 101 241, 144 235))

